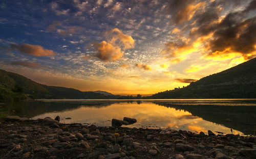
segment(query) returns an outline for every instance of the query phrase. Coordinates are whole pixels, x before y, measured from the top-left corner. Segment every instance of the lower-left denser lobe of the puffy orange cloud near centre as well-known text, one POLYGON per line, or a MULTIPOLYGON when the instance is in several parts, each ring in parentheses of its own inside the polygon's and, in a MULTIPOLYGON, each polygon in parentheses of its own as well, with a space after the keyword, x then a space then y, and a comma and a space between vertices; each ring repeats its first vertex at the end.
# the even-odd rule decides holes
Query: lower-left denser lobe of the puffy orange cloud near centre
POLYGON ((97 55, 102 61, 116 61, 121 59, 124 51, 121 50, 118 46, 113 46, 112 44, 102 41, 100 43, 95 43, 94 47, 97 49, 97 55))

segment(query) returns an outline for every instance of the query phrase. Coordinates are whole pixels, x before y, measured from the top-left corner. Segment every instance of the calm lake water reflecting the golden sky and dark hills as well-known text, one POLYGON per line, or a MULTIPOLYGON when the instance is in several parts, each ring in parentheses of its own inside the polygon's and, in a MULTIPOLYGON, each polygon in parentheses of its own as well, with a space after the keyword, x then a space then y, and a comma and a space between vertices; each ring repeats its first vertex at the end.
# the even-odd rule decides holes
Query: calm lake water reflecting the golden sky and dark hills
POLYGON ((62 123, 111 126, 111 119, 136 118, 129 127, 256 133, 256 99, 37 100, 0 104, 1 111, 31 119, 60 116, 62 123), (71 119, 65 119, 65 118, 71 119), (254 132, 255 131, 255 132, 254 132))

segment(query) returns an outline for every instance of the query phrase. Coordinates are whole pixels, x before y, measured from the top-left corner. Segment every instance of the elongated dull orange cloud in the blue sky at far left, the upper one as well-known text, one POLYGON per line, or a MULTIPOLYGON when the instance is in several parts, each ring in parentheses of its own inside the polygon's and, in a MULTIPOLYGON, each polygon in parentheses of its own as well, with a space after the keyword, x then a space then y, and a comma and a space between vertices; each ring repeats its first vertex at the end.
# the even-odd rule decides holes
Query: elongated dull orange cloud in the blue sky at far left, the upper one
POLYGON ((32 56, 37 57, 44 57, 44 56, 54 56, 57 54, 57 52, 54 52, 53 50, 45 49, 40 45, 30 45, 30 44, 11 44, 11 49, 17 49, 23 54, 28 54, 32 56))

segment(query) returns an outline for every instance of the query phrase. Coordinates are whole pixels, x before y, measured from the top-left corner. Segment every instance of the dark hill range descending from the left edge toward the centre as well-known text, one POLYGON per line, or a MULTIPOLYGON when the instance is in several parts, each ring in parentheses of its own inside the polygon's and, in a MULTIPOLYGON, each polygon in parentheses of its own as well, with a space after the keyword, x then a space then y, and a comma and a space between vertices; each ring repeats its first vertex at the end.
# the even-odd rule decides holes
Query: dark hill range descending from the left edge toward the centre
POLYGON ((6 97, 6 94, 13 95, 15 87, 21 87, 24 94, 34 99, 116 99, 120 97, 104 91, 82 92, 72 88, 42 85, 25 76, 0 69, 0 100, 11 98, 6 97))

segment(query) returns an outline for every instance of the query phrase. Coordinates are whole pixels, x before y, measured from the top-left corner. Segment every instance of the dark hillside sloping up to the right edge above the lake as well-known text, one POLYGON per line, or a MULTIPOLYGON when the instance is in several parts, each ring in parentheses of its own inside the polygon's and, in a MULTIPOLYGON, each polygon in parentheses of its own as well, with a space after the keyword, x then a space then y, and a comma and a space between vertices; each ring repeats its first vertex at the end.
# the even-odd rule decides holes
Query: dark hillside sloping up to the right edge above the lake
POLYGON ((203 77, 187 87, 146 98, 256 98, 256 58, 203 77))

